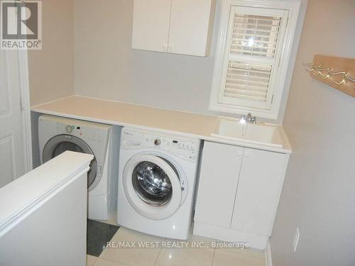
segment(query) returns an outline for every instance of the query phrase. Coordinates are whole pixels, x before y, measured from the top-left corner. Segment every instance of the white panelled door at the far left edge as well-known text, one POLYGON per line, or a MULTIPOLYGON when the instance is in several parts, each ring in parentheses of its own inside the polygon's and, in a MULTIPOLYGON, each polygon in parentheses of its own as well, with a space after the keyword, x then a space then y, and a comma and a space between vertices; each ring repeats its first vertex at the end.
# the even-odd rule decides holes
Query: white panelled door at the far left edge
POLYGON ((0 187, 26 172, 18 55, 0 50, 0 187))

